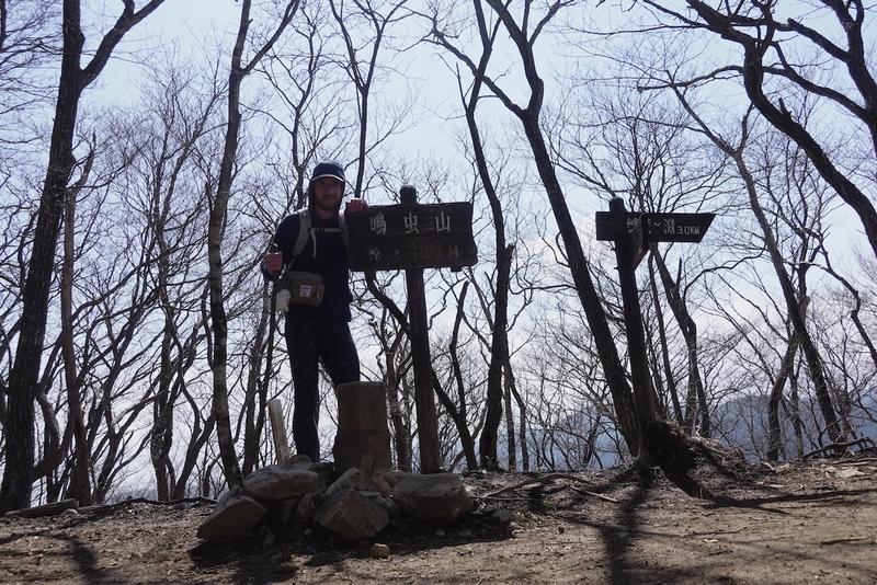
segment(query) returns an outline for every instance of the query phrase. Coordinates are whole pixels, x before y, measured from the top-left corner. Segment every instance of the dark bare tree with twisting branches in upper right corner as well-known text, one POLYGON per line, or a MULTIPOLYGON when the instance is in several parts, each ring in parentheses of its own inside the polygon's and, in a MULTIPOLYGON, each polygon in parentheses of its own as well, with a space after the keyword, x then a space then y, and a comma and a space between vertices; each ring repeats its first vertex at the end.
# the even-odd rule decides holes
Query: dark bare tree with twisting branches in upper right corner
POLYGON ((843 168, 842 161, 808 129, 799 112, 784 102, 784 97, 789 99, 788 92, 775 89, 775 85, 790 85, 836 106, 839 115, 850 116, 866 128, 870 153, 877 156, 877 81, 865 45, 868 15, 865 4, 859 0, 846 3, 822 0, 815 10, 808 7, 807 12, 781 21, 776 4, 771 2, 716 9, 701 0, 686 0, 686 5, 694 11, 693 16, 660 0, 643 3, 660 15, 669 15, 693 30, 713 33, 742 49, 741 65, 727 65, 674 83, 696 85, 722 73, 739 74, 752 105, 807 153, 825 182, 855 210, 877 255, 877 210, 867 195, 873 180, 866 180, 864 187, 854 183, 854 176, 843 168), (842 33, 835 35, 832 26, 842 33), (811 51, 812 60, 801 61, 791 56, 791 51, 801 50, 801 46, 811 51), (823 82, 810 71, 815 62, 820 62, 819 69, 829 69, 836 77, 845 72, 847 78, 834 83, 833 79, 823 82))

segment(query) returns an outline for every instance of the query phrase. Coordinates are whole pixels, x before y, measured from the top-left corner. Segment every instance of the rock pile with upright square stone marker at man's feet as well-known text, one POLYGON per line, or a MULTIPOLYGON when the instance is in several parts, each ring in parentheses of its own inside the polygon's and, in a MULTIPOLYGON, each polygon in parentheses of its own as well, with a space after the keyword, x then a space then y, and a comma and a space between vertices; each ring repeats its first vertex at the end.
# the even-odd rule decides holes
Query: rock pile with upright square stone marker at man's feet
POLYGON ((219 501, 198 527, 198 537, 238 538, 260 523, 316 523, 355 540, 377 535, 402 516, 455 520, 471 512, 472 500, 454 473, 415 475, 390 470, 384 385, 341 385, 337 394, 334 464, 312 463, 297 455, 284 464, 254 471, 241 489, 219 501))

